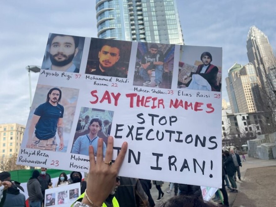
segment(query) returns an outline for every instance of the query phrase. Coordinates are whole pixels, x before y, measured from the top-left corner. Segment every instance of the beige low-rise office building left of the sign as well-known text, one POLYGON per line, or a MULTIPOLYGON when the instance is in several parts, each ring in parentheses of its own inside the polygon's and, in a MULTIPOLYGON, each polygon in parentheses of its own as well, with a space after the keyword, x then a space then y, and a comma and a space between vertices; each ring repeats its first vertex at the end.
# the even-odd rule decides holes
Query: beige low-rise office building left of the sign
POLYGON ((0 159, 18 154, 25 126, 20 124, 0 124, 0 159))

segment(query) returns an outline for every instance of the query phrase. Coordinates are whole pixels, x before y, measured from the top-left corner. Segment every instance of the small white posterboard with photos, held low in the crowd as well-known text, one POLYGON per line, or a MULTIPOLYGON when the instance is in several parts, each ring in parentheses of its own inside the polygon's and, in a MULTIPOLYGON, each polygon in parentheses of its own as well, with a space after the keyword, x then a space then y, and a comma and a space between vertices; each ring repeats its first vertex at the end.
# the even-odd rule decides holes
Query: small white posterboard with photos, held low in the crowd
POLYGON ((49 188, 45 190, 44 206, 71 206, 81 195, 80 183, 63 185, 61 187, 49 188))

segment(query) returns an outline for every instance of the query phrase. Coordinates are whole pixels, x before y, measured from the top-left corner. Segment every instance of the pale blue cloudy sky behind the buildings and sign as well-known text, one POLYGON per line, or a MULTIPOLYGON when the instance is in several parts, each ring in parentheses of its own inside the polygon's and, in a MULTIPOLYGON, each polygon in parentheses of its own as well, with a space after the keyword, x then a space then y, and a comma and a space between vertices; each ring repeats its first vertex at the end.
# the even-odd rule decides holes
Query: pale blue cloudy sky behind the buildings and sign
MULTIPOLYGON (((248 63, 246 40, 250 26, 262 30, 276 48, 275 0, 177 0, 186 45, 223 49, 225 77, 235 62, 248 63)), ((97 37, 95 0, 1 1, 0 123, 26 125, 29 78, 25 67, 41 66, 49 33, 97 37)), ((31 73, 32 96, 38 80, 31 73)))

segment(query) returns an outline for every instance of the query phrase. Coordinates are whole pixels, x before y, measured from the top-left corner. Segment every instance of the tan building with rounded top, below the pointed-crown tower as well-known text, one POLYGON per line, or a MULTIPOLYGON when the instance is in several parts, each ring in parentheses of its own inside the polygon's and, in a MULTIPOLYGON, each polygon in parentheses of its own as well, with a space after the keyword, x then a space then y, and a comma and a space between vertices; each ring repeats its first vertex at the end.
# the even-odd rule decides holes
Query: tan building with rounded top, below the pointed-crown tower
POLYGON ((235 63, 228 72, 226 89, 233 113, 261 111, 260 80, 252 63, 235 63))

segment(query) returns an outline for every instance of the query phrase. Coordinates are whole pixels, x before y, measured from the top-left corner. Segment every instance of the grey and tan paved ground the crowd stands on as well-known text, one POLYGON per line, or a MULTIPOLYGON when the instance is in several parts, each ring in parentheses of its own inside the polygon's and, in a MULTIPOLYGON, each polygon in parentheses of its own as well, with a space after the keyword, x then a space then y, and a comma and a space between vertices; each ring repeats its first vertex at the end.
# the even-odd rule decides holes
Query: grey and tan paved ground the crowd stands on
MULTIPOLYGON (((274 199, 276 194, 274 187, 276 185, 276 161, 245 156, 246 161, 242 162, 242 167, 240 167, 241 181, 237 179, 236 182, 239 193, 230 193, 226 188, 230 206, 276 206, 276 199, 274 199)), ((158 190, 155 185, 152 185, 151 188, 151 196, 156 206, 174 196, 174 188, 171 194, 166 193, 169 190, 169 183, 165 182, 161 189, 164 192, 164 197, 161 201, 156 201, 158 190)))

